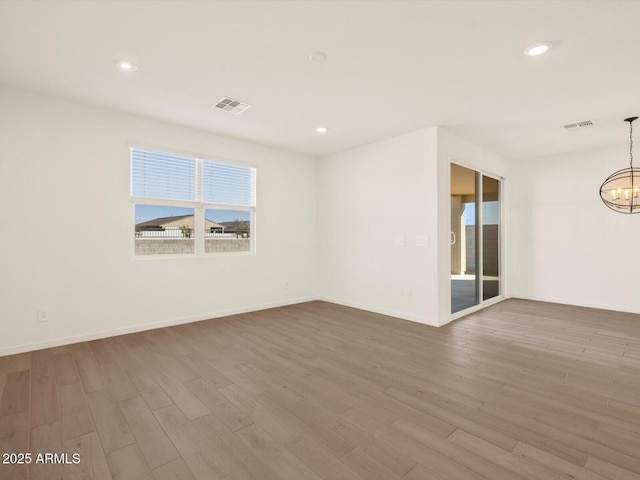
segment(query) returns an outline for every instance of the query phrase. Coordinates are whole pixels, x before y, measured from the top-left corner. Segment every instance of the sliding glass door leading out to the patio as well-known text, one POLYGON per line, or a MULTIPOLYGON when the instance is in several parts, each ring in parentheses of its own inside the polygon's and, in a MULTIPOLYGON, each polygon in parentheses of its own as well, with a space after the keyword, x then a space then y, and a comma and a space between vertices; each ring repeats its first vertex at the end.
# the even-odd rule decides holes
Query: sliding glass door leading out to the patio
POLYGON ((451 164, 451 313, 500 295, 500 183, 451 164))

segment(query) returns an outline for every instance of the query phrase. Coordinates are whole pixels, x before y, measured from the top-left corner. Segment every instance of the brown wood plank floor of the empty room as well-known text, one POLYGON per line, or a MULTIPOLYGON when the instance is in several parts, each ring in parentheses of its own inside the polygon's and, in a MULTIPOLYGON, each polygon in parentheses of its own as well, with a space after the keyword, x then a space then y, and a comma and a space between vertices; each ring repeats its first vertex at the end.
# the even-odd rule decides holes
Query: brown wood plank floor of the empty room
POLYGON ((640 478, 640 315, 604 310, 312 302, 0 357, 0 395, 3 480, 640 478))

